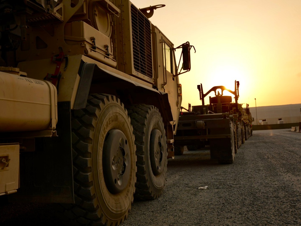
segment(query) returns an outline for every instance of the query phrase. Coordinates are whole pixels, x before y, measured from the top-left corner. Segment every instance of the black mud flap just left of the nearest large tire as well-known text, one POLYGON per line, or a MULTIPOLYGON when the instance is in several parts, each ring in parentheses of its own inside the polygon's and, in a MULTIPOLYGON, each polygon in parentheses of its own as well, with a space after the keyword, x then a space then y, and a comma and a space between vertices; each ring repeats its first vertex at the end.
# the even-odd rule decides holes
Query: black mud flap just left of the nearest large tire
POLYGON ((20 153, 20 188, 12 202, 74 203, 70 102, 58 103, 58 137, 36 138, 35 151, 20 153))

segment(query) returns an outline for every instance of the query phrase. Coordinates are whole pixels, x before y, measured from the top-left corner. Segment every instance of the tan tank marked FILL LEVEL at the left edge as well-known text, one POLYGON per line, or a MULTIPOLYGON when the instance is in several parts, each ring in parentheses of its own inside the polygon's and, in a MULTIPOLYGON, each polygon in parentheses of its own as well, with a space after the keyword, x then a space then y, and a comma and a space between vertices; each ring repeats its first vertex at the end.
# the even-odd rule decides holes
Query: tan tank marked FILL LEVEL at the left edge
POLYGON ((57 89, 44 80, 0 71, 0 132, 54 130, 57 89))

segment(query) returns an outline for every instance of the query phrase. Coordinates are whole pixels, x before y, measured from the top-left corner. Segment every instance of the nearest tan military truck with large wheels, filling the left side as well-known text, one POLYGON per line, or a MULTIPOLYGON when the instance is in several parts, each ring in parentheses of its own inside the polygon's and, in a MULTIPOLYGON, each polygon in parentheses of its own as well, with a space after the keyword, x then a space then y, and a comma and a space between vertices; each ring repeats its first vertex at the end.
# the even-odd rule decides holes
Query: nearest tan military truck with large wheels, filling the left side
POLYGON ((74 225, 161 195, 192 47, 148 20, 162 6, 0 2, 0 195, 64 203, 74 225))

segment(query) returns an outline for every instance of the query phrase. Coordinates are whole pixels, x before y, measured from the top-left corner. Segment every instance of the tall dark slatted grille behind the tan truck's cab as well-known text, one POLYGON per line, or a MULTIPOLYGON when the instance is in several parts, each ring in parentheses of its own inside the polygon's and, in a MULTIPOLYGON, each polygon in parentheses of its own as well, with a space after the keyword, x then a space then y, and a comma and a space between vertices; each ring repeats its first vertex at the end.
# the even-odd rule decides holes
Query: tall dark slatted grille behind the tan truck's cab
POLYGON ((133 5, 131 5, 131 16, 135 71, 153 77, 150 21, 133 5))

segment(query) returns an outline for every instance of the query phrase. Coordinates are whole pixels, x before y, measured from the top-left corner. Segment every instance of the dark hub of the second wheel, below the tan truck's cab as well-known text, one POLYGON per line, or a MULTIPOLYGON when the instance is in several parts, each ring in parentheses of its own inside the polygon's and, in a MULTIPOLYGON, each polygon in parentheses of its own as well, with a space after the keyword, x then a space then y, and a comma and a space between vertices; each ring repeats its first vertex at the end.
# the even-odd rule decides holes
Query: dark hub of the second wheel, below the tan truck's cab
POLYGON ((150 161, 155 176, 162 172, 162 133, 160 130, 152 130, 150 137, 150 161))

